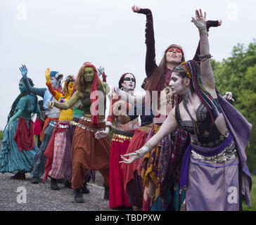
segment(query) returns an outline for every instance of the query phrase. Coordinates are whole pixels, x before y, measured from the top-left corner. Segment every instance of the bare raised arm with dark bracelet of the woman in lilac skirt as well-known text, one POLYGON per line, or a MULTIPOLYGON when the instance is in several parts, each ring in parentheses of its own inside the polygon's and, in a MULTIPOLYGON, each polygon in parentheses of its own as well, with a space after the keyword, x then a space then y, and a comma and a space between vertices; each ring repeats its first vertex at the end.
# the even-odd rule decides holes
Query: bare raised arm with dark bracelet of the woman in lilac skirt
POLYGON ((200 34, 200 72, 203 86, 206 89, 215 90, 215 79, 210 63, 210 46, 206 29, 206 13, 203 15, 201 9, 199 11, 196 10, 196 19, 192 18, 192 22, 198 27, 200 34))

